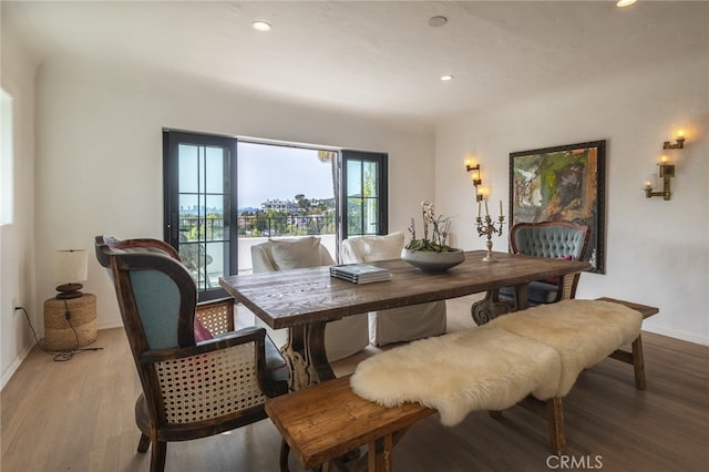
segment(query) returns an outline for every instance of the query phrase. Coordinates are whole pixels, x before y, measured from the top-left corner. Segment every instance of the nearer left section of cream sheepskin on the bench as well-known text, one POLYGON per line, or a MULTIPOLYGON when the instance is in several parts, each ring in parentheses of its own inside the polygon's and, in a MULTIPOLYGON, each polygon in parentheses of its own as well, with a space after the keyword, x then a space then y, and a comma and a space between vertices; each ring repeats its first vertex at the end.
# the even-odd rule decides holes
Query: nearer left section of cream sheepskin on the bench
POLYGON ((474 410, 504 410, 530 393, 558 390, 561 360, 544 343, 484 326, 422 339, 373 356, 350 380, 362 398, 386 407, 419 402, 454 425, 474 410))

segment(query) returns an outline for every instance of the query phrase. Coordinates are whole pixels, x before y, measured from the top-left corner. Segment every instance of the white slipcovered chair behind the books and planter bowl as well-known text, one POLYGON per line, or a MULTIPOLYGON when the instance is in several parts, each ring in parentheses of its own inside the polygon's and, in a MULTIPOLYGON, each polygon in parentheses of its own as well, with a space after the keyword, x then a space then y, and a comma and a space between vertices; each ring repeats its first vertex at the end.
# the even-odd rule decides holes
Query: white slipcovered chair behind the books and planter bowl
MULTIPOLYGON (((398 259, 403 233, 359 236, 342 242, 342 263, 398 259)), ((439 336, 445 332, 445 301, 369 312, 369 341, 374 346, 439 336)))

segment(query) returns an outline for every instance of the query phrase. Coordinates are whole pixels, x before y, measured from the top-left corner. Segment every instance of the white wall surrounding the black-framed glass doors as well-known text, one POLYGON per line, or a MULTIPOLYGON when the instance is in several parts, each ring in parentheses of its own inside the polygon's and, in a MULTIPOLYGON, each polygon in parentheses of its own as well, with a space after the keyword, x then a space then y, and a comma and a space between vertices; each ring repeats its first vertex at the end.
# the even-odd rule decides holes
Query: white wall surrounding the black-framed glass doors
MULTIPOLYGON (((248 96, 145 68, 54 58, 37 80, 37 301, 53 296, 52 252, 93 237, 162 238, 162 129, 389 153, 390 229, 432 198, 433 130, 248 96)), ((120 324, 105 271, 90 259, 85 290, 99 328, 120 324)))

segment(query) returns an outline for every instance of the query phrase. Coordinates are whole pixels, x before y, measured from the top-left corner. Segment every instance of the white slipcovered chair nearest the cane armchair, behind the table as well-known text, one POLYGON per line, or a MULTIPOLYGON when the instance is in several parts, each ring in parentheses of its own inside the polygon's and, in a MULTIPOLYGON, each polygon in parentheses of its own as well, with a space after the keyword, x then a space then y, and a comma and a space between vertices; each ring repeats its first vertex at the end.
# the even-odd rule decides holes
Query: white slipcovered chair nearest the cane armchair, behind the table
MULTIPOLYGON (((320 238, 307 236, 292 239, 269 239, 251 246, 254 273, 332 266, 335 260, 320 238)), ((276 346, 288 340, 287 329, 271 329, 260 319, 256 325, 265 327, 276 346)), ((352 356, 369 346, 367 315, 356 315, 328 322, 325 328, 325 351, 330 362, 352 356)))

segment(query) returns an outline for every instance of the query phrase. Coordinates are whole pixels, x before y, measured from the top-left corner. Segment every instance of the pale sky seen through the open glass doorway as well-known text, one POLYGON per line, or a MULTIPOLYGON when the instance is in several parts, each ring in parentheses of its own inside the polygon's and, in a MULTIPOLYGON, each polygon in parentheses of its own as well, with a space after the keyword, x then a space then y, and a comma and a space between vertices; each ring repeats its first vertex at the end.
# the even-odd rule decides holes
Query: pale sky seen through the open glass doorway
POLYGON ((316 150, 238 143, 239 208, 260 207, 267 199, 332 198, 330 162, 316 150))

